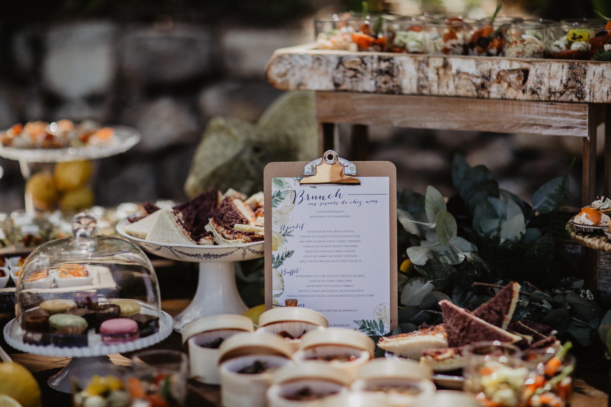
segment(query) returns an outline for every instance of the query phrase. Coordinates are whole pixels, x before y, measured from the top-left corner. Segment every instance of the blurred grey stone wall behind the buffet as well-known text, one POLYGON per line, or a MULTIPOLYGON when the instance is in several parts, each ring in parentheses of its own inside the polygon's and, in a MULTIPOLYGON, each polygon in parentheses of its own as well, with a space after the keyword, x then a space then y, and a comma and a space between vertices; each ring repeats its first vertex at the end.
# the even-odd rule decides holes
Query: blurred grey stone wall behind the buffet
MULTIPOLYGON (((200 5, 169 16, 161 3, 147 3, 152 10, 144 17, 113 9, 93 17, 76 13, 56 20, 42 13, 31 21, 0 20, 0 128, 89 118, 142 132, 131 152, 100 161, 95 189, 101 205, 185 199, 183 185, 208 121, 230 116, 255 122, 281 94, 263 78, 273 51, 310 42, 312 15, 340 1, 287 2, 280 13, 291 17, 273 21, 261 10, 249 11, 246 1, 236 2, 239 18, 229 21, 217 17, 228 14, 230 5, 210 2, 210 10, 200 5), (202 14, 202 7, 208 12, 202 14)), ((27 4, 13 5, 18 9, 8 15, 26 12, 27 4)), ((502 127, 503 117, 498 119, 502 127)), ((340 153, 349 151, 348 134, 349 127, 340 126, 340 153)), ((453 193, 454 152, 472 165, 485 164, 502 188, 527 200, 575 156, 571 186, 579 204, 579 139, 390 127, 370 128, 370 139, 370 159, 395 163, 400 188, 424 193, 435 185, 445 195, 453 193)), ((0 158, 0 166, 0 211, 23 207, 18 164, 0 158)))

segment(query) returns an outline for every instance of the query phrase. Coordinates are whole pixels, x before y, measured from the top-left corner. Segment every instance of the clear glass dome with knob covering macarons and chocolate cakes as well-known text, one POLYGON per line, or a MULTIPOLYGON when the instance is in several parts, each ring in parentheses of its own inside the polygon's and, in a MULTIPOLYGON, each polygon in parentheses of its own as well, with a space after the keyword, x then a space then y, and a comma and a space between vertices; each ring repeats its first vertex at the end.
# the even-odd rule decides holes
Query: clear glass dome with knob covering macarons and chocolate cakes
POLYGON ((14 271, 17 318, 10 335, 21 332, 29 345, 82 348, 156 334, 163 318, 159 284, 144 252, 98 236, 88 213, 72 219, 72 231, 73 237, 35 249, 14 271))

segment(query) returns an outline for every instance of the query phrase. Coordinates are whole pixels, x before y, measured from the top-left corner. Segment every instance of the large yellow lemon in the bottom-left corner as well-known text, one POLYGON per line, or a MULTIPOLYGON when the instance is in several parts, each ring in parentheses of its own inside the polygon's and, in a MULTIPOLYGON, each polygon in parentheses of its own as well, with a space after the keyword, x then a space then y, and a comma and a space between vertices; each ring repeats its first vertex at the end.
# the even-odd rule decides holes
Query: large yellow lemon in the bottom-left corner
POLYGON ((0 394, 14 398, 23 407, 41 406, 38 383, 20 364, 0 363, 0 394))

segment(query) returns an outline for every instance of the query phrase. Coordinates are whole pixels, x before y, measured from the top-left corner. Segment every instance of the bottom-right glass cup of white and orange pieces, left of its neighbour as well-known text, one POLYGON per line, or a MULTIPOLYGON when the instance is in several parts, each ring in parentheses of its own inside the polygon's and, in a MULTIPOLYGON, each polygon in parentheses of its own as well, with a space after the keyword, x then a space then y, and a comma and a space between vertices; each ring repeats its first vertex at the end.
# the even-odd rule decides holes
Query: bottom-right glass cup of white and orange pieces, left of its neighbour
POLYGON ((505 354, 469 358, 464 372, 464 391, 478 402, 496 407, 521 407, 529 378, 527 362, 505 354))

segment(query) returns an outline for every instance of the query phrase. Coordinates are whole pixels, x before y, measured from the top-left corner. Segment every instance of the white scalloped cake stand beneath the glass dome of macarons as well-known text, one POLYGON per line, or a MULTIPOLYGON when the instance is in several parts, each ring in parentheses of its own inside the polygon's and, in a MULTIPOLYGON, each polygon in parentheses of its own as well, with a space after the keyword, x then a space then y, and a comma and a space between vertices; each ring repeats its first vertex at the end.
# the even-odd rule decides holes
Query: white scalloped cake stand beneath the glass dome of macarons
POLYGON ((18 321, 18 318, 11 320, 4 326, 4 339, 10 347, 22 352, 42 354, 45 356, 71 357, 71 361, 68 362, 64 369, 51 376, 46 382, 57 391, 70 393, 70 376, 72 376, 73 370, 78 367, 95 362, 112 364, 106 355, 147 348, 166 339, 172 333, 172 317, 164 311, 159 312, 161 313, 159 315, 159 332, 144 338, 136 339, 132 342, 119 343, 117 345, 104 345, 101 342, 100 335, 95 334, 95 332, 89 332, 89 346, 82 348, 60 348, 54 345, 47 345, 45 347, 23 343, 21 337, 21 322, 18 321))

